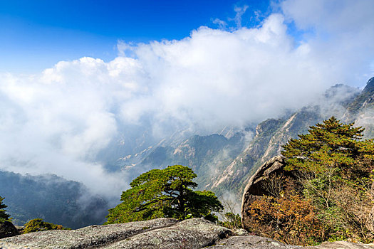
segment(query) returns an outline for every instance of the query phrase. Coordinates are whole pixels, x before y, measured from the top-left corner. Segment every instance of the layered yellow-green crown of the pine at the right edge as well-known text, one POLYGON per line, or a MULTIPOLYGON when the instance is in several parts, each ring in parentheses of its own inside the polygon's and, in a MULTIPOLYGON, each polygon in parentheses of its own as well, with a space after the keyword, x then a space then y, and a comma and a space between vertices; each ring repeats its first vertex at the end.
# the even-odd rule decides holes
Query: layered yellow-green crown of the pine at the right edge
POLYGON ((343 124, 335 117, 310 127, 283 147, 288 169, 318 174, 335 171, 344 179, 368 177, 374 159, 373 140, 361 141, 363 127, 343 124))

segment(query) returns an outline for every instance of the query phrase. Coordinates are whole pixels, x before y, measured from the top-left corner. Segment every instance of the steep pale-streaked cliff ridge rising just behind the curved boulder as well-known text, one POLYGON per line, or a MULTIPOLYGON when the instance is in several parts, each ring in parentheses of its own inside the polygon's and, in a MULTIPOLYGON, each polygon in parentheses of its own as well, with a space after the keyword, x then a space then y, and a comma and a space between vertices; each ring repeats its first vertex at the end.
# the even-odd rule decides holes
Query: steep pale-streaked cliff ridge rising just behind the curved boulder
POLYGON ((235 189, 242 193, 246 182, 265 161, 281 152, 281 145, 308 127, 323 120, 318 108, 303 108, 291 117, 281 120, 266 120, 256 127, 256 135, 239 156, 222 174, 214 179, 212 189, 219 193, 223 189, 235 189))

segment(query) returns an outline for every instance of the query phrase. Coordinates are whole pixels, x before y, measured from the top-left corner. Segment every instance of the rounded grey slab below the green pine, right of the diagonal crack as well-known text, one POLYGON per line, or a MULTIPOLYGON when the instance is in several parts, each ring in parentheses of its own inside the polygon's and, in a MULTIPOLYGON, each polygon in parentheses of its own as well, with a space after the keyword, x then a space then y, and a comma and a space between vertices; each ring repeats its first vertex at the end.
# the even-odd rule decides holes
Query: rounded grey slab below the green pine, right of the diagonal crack
POLYGON ((105 248, 204 248, 219 239, 232 235, 232 231, 200 218, 191 218, 168 228, 135 235, 105 248))

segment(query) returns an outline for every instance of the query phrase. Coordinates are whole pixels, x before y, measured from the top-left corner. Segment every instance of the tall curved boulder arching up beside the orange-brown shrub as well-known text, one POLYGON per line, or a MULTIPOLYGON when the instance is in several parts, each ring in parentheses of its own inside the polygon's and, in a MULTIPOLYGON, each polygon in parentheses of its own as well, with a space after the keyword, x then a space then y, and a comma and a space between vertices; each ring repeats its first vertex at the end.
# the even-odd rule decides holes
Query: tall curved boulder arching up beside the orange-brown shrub
POLYGON ((241 200, 241 222, 243 224, 244 229, 248 230, 250 227, 248 225, 249 220, 249 206, 253 201, 261 196, 268 195, 268 191, 264 189, 264 181, 269 179, 270 176, 273 175, 280 175, 283 174, 284 176, 291 176, 293 177, 292 173, 289 171, 284 171, 284 166, 286 162, 284 157, 276 156, 266 161, 262 164, 259 169, 257 169, 256 173, 251 176, 249 179, 248 184, 244 189, 243 198, 241 200))

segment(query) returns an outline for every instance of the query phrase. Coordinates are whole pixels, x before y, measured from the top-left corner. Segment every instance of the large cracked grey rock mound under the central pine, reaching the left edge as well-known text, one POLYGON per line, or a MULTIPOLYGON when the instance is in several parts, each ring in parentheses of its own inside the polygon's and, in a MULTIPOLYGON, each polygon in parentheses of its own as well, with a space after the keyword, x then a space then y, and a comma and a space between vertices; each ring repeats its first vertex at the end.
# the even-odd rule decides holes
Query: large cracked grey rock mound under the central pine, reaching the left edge
MULTIPOLYGON (((26 248, 204 248, 232 231, 214 223, 192 218, 177 222, 172 218, 137 221, 78 230, 27 233, 1 240, 1 244, 26 248)), ((1 246, 0 246, 1 248, 1 246)), ((5 247, 4 247, 5 248, 5 247)))

